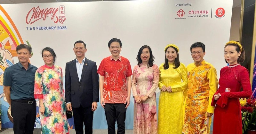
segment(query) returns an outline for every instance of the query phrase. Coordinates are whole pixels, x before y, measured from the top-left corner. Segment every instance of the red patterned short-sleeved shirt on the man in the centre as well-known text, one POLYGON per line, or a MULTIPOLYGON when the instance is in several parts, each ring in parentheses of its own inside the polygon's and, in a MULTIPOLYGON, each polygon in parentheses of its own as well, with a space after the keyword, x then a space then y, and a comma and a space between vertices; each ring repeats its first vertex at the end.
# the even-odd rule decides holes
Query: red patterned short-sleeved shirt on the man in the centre
POLYGON ((106 57, 101 61, 97 73, 104 76, 105 103, 124 103, 127 98, 126 77, 132 76, 128 59, 119 56, 115 61, 112 56, 106 57))

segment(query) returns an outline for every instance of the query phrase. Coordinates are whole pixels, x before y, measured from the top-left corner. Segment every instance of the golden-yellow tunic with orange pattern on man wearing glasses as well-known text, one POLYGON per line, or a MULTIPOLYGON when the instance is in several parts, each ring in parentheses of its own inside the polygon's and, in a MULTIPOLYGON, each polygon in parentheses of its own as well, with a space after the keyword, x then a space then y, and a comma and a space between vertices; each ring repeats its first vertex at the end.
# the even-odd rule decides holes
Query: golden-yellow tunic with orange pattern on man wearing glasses
POLYGON ((188 69, 188 92, 185 100, 184 134, 209 134, 213 94, 218 88, 216 69, 205 61, 199 65, 191 63, 188 69))

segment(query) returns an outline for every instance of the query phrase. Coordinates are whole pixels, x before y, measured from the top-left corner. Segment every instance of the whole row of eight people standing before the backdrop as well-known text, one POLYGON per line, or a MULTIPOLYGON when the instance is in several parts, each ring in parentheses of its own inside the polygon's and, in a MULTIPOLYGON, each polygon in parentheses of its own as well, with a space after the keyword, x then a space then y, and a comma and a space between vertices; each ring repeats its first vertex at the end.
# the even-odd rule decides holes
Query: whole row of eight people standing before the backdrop
POLYGON ((19 62, 4 71, 3 83, 14 133, 33 133, 38 99, 42 133, 69 133, 66 112, 72 110, 76 133, 92 134, 93 111, 100 96, 108 134, 115 134, 116 123, 117 133, 124 134, 131 90, 134 134, 208 134, 213 113, 213 133, 242 133, 238 98, 250 97, 252 89, 248 70, 239 64, 245 58, 239 42, 229 41, 224 46, 224 58, 229 65, 221 69, 219 82, 216 69, 204 61, 205 45, 201 42, 191 45, 194 63, 187 67, 180 63, 179 47, 175 44, 164 48, 164 63, 159 68, 154 64, 151 48, 144 45, 139 49, 133 71, 129 60, 120 56, 120 39, 111 39, 108 48, 111 56, 104 58, 97 69, 96 63, 85 57, 86 44, 76 41, 76 59, 66 63, 64 90, 62 69, 55 65, 52 48, 42 50, 45 64, 37 69, 29 63, 31 47, 18 45, 19 62))

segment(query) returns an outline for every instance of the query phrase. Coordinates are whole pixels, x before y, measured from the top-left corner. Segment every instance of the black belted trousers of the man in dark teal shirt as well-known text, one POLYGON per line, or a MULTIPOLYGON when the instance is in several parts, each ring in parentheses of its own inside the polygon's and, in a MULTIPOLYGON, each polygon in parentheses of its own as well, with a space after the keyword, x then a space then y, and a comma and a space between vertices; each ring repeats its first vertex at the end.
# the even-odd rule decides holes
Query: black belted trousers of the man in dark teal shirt
POLYGON ((12 100, 11 102, 13 131, 15 134, 33 134, 36 121, 36 100, 31 100, 12 100))

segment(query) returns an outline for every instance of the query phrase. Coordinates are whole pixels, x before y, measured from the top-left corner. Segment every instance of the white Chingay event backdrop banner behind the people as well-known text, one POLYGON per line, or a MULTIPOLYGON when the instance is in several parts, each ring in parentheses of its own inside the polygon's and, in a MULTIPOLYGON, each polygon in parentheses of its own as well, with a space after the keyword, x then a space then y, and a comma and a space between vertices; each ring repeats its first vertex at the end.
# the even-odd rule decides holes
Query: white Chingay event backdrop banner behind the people
MULTIPOLYGON (((121 55, 128 58, 132 69, 142 45, 149 45, 155 64, 164 62, 164 47, 173 43, 180 48, 180 62, 193 63, 190 46, 206 45, 205 61, 220 69, 226 66, 224 45, 229 41, 232 0, 139 0, 107 2, 67 2, 0 5, 0 102, 3 128, 13 127, 9 104, 3 93, 3 72, 18 62, 16 47, 32 47, 30 63, 44 65, 41 51, 54 49, 56 65, 65 74, 65 64, 75 59, 73 45, 82 40, 87 45, 86 58, 99 66, 110 56, 108 41, 122 41, 121 55)), ((157 103, 159 89, 156 90, 157 103)), ((127 109, 126 129, 133 129, 133 95, 127 109)), ((38 106, 38 102, 37 102, 38 106)), ((38 109, 38 107, 37 107, 38 109)), ((157 108, 158 109, 158 108, 157 108)), ((16 111, 19 112, 19 111, 16 111)), ((73 118, 69 119, 74 128, 73 118)), ((35 128, 41 128, 39 113, 35 128)), ((94 129, 106 129, 104 109, 98 103, 94 112, 94 129)))

